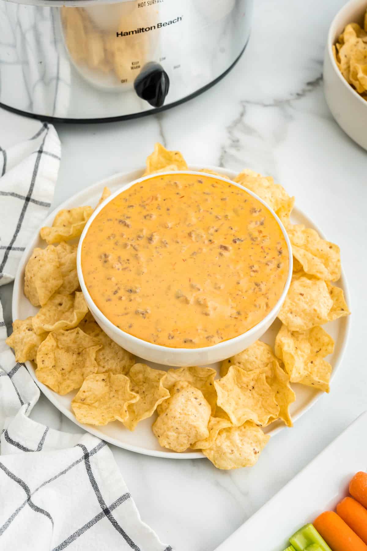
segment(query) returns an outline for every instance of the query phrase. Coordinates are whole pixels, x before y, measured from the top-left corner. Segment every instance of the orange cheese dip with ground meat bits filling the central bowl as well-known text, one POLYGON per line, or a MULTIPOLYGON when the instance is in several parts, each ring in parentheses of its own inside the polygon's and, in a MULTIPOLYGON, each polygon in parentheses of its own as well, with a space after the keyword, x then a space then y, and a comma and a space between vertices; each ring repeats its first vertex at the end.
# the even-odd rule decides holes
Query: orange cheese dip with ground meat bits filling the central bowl
POLYGON ((92 300, 144 341, 200 348, 248 331, 288 276, 281 228, 231 182, 155 175, 102 208, 81 248, 92 300))

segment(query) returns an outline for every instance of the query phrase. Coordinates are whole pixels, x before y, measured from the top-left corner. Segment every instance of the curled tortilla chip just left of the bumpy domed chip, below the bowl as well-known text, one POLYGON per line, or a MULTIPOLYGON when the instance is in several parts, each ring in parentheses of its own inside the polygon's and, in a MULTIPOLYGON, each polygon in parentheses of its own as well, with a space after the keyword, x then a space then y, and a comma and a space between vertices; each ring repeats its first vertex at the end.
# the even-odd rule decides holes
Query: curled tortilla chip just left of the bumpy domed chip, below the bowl
POLYGON ((134 430, 139 421, 151 417, 158 404, 169 398, 169 391, 163 386, 166 371, 150 368, 149 365, 133 365, 128 377, 131 389, 139 400, 128 406, 129 416, 124 424, 129 430, 134 430))

